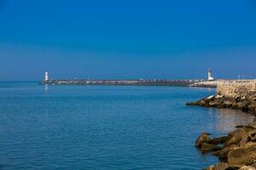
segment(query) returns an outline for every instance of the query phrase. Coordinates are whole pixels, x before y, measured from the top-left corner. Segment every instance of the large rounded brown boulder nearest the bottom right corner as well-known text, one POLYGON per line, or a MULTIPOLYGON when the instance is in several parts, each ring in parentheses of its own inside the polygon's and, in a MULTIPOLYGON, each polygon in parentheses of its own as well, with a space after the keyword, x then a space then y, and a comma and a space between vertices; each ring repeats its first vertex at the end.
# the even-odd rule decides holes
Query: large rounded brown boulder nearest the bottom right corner
POLYGON ((247 148, 238 148, 236 150, 230 150, 228 154, 228 163, 230 165, 252 165, 253 154, 251 150, 247 148))

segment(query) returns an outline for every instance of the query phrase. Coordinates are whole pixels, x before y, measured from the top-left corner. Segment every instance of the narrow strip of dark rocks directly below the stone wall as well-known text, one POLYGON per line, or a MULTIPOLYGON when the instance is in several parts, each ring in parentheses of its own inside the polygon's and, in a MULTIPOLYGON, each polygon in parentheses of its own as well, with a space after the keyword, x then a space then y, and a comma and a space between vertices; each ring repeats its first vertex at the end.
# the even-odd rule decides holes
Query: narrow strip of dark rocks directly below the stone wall
POLYGON ((214 107, 219 109, 236 109, 256 116, 256 95, 236 96, 235 98, 228 98, 223 95, 212 95, 196 102, 187 103, 187 105, 214 107))

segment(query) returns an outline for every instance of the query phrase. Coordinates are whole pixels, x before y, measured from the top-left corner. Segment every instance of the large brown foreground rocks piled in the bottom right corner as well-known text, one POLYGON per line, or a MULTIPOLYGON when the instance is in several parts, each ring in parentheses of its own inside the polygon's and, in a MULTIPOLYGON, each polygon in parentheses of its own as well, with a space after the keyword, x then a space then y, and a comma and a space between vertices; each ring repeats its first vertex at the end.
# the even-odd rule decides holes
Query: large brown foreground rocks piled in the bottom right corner
POLYGON ((195 147, 218 156, 220 163, 207 170, 256 170, 256 120, 237 126, 227 136, 211 139, 209 133, 201 133, 195 147))

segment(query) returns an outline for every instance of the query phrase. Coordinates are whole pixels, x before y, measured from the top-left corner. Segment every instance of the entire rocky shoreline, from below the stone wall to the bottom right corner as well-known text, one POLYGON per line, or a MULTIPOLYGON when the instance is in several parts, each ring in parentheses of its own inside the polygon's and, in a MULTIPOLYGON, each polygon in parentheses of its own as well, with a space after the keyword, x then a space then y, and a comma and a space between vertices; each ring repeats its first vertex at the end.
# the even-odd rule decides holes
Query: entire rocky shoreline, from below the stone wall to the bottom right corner
MULTIPOLYGON (((256 95, 235 98, 212 95, 187 105, 236 109, 256 116, 256 95)), ((211 139, 209 133, 201 133, 195 147, 203 154, 218 156, 220 163, 207 170, 256 170, 256 118, 252 123, 237 126, 227 136, 211 139)))

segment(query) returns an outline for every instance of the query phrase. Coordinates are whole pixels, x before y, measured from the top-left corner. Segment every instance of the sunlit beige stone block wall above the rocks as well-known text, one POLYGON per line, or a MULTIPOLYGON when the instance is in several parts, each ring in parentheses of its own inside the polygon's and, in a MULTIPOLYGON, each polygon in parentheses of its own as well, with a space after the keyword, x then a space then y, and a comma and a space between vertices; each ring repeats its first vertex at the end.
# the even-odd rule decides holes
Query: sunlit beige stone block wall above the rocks
POLYGON ((217 94, 235 98, 256 94, 256 81, 223 81, 217 84, 217 94))

